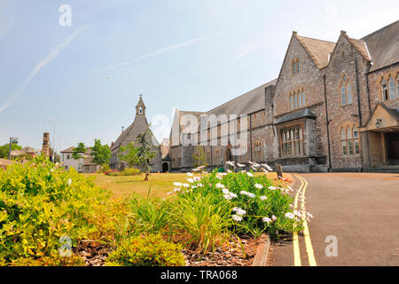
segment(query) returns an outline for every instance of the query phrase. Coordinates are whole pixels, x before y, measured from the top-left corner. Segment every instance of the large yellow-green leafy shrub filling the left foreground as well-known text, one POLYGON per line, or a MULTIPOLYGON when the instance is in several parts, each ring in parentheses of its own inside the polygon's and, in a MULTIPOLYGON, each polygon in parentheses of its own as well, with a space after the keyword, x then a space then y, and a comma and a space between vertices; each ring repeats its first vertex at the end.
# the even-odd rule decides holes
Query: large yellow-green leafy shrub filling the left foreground
POLYGON ((0 259, 58 257, 61 236, 74 246, 98 230, 90 219, 108 201, 90 178, 43 157, 12 164, 0 171, 0 259))

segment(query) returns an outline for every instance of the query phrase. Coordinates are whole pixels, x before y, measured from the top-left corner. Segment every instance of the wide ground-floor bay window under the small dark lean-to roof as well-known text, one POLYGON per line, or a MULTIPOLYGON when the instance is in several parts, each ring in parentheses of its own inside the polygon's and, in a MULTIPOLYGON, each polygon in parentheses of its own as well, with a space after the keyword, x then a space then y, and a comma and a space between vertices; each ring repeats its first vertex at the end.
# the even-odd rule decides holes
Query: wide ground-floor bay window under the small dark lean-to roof
POLYGON ((280 135, 280 147, 283 157, 299 156, 303 154, 303 136, 300 125, 282 129, 280 135))

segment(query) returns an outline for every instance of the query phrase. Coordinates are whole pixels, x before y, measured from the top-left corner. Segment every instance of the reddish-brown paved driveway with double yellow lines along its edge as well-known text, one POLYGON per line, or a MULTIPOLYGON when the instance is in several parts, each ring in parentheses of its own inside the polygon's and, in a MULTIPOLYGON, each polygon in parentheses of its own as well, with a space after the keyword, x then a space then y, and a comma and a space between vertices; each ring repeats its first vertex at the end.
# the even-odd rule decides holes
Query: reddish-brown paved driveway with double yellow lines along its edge
MULTIPOLYGON (((301 180, 292 176, 293 187, 299 188, 301 180)), ((308 227, 317 265, 399 265, 399 174, 300 176, 309 183, 306 209, 314 215, 308 227), (338 256, 326 256, 327 246, 330 254, 334 251, 334 240, 338 256)), ((309 248, 303 235, 298 239, 301 265, 307 266, 309 248)), ((271 246, 270 265, 293 265, 294 255, 288 237, 271 246)))

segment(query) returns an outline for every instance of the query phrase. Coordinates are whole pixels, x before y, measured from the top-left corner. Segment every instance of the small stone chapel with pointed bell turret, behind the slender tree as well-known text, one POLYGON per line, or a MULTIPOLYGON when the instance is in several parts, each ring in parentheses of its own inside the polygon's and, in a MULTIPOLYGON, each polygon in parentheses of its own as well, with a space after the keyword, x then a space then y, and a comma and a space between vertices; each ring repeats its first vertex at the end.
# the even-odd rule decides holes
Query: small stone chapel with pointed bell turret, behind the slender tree
MULTIPOLYGON (((145 103, 143 101, 142 96, 140 95, 140 99, 138 100, 136 106, 136 117, 133 123, 129 125, 126 130, 123 130, 119 138, 116 139, 115 143, 111 146, 111 169, 123 170, 126 165, 125 162, 121 162, 118 156, 119 149, 121 146, 126 146, 129 142, 136 142, 136 138, 138 134, 145 133, 145 130, 148 128, 148 122, 145 117, 145 103)), ((151 159, 150 164, 152 166, 153 172, 159 172, 162 170, 161 165, 161 154, 160 154, 160 143, 157 138, 153 136, 153 132, 150 130, 150 139, 153 144, 153 151, 156 152, 156 157, 151 159)))

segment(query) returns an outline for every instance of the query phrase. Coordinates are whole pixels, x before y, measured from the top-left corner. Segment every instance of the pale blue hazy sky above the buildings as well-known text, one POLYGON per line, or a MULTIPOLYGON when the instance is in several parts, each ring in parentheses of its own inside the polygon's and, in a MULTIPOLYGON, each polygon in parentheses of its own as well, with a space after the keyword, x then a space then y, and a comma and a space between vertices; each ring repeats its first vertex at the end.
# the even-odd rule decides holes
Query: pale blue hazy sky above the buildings
POLYGON ((397 11, 397 0, 0 0, 0 145, 40 149, 45 131, 57 151, 110 144, 140 93, 168 138, 176 108, 207 111, 277 78, 293 30, 360 38, 397 11))

